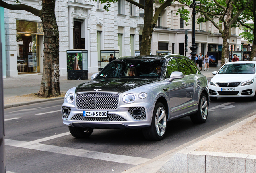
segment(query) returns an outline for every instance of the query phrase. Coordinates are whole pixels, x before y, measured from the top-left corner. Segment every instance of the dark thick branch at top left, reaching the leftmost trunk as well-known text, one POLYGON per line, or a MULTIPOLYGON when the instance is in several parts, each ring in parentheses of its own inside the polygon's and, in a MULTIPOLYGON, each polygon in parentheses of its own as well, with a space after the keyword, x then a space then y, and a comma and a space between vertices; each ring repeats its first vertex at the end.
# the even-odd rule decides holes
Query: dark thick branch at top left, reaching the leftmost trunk
POLYGON ((25 10, 27 12, 31 12, 35 16, 41 17, 41 10, 37 10, 36 8, 33 8, 31 6, 25 5, 25 4, 8 4, 2 0, 0 0, 1 7, 7 8, 9 10, 25 10))

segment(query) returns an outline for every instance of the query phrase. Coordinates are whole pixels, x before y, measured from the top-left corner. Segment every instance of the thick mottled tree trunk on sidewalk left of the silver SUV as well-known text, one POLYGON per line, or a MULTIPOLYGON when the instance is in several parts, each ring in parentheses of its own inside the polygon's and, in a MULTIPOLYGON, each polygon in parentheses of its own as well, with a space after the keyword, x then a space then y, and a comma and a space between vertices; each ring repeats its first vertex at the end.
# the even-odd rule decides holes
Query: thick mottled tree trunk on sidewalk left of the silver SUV
POLYGON ((55 17, 55 0, 42 0, 41 20, 43 22, 43 76, 39 97, 60 95, 59 81, 59 30, 55 17))

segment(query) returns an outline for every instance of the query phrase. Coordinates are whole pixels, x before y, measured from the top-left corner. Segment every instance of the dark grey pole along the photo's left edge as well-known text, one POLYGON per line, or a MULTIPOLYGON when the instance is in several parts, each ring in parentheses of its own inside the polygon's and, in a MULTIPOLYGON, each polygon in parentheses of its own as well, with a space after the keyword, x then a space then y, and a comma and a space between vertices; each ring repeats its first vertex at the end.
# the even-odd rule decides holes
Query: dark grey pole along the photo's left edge
POLYGON ((0 173, 5 173, 4 152, 4 99, 3 99, 3 72, 2 72, 2 40, 1 40, 1 18, 0 18, 0 173))

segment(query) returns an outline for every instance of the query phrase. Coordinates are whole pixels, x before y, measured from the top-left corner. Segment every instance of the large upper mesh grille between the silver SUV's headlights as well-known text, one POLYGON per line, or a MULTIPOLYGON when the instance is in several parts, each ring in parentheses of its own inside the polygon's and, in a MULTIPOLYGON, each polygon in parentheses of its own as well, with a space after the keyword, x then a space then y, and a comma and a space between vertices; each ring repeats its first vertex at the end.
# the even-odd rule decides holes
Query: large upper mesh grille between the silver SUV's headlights
POLYGON ((82 93, 76 95, 77 109, 117 109, 118 94, 82 93))

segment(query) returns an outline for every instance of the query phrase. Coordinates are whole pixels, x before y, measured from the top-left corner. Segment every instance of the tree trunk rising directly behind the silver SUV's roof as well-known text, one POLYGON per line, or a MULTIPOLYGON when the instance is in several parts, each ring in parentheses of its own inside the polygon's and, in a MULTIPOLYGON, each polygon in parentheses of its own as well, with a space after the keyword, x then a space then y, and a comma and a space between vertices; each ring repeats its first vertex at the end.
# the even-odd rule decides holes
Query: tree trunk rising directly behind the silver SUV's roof
POLYGON ((154 28, 155 22, 153 20, 153 1, 146 0, 140 55, 150 55, 152 33, 154 28))

